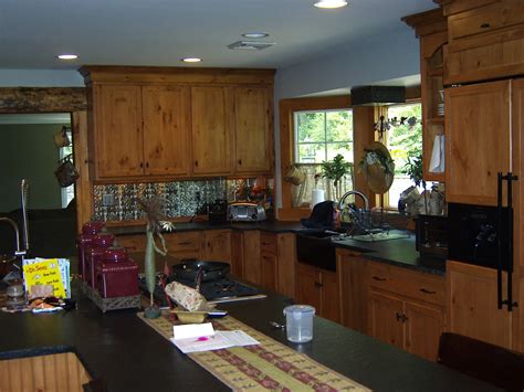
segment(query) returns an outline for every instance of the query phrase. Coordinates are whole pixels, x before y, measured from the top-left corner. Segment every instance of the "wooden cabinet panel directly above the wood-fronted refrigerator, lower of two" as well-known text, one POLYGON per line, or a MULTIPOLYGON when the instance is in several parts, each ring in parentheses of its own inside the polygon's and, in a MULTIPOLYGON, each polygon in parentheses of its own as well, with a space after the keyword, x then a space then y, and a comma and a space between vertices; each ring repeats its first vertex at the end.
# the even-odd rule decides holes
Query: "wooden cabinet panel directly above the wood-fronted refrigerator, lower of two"
POLYGON ((448 45, 444 84, 479 82, 524 73, 524 27, 448 45))

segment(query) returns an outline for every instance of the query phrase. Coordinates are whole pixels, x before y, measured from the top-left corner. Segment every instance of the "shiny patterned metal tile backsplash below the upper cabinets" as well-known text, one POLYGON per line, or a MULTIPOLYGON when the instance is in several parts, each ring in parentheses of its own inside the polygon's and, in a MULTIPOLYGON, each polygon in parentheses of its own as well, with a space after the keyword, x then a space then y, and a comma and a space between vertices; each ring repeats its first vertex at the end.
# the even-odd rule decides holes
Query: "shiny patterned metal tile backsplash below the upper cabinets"
MULTIPOLYGON (((103 221, 129 221, 142 218, 137 199, 160 195, 167 218, 191 216, 205 203, 217 199, 229 202, 245 200, 256 179, 211 179, 200 181, 174 181, 156 183, 124 183, 94 186, 94 219, 103 221)), ((273 181, 266 187, 272 194, 273 181)), ((272 203, 272 198, 268 198, 272 203)))

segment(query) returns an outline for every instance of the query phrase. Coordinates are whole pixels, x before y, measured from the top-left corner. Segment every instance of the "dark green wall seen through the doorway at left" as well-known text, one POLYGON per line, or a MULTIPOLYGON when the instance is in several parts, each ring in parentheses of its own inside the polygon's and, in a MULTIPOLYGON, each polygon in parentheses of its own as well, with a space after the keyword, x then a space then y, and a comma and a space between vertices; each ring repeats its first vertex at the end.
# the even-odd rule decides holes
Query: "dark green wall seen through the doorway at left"
MULTIPOLYGON (((69 126, 69 125, 67 125, 69 126)), ((0 125, 0 212, 20 208, 20 180, 29 181, 29 209, 60 209, 61 188, 54 176, 59 124, 0 125)))

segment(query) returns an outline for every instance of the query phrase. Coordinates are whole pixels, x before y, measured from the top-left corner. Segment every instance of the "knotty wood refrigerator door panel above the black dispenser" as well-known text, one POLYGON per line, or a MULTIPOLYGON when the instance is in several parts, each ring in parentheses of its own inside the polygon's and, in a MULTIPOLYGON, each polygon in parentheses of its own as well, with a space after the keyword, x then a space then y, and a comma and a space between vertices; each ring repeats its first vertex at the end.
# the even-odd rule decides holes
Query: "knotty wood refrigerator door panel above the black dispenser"
POLYGON ((496 205, 497 172, 511 171, 510 85, 447 88, 448 202, 496 205))

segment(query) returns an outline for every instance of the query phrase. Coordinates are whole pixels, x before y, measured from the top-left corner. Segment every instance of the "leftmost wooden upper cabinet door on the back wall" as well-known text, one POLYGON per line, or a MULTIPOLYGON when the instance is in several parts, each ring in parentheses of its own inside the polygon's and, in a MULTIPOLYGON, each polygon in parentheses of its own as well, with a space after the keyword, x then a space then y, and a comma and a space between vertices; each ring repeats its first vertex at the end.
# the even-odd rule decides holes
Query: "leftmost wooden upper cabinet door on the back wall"
POLYGON ((140 87, 98 85, 93 94, 95 129, 91 136, 95 177, 140 176, 144 171, 140 87))

